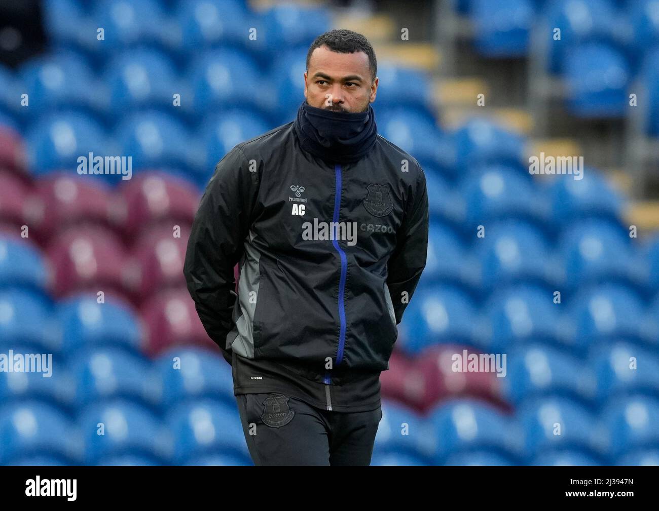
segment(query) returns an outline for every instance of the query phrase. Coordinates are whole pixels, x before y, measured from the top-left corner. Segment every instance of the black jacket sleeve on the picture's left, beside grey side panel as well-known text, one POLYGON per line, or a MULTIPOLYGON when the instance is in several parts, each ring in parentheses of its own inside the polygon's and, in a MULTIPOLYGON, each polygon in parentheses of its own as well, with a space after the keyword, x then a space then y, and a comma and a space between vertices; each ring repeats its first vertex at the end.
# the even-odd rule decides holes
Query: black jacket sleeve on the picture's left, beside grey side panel
POLYGON ((185 254, 183 273, 206 332, 231 363, 227 334, 233 329, 234 267, 243 254, 258 194, 258 172, 236 146, 215 166, 185 254))

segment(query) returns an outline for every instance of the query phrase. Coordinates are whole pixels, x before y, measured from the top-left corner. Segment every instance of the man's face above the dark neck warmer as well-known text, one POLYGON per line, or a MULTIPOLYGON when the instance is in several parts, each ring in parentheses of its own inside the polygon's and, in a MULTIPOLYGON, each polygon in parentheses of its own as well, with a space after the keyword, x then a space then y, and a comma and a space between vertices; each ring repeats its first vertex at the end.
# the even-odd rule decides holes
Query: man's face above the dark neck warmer
POLYGON ((314 49, 304 72, 304 97, 312 107, 363 112, 375 101, 378 78, 372 83, 368 55, 336 53, 326 45, 314 49))

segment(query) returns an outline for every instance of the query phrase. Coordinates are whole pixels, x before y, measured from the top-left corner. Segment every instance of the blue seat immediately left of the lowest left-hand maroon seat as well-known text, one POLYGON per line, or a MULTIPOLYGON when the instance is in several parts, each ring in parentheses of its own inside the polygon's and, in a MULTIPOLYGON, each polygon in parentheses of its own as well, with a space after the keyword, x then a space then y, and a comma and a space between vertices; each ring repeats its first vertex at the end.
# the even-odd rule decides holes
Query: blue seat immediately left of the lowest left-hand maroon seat
POLYGON ((63 350, 69 355, 80 348, 102 346, 140 352, 140 324, 129 304, 113 299, 99 304, 96 297, 74 296, 59 302, 55 315, 63 350))

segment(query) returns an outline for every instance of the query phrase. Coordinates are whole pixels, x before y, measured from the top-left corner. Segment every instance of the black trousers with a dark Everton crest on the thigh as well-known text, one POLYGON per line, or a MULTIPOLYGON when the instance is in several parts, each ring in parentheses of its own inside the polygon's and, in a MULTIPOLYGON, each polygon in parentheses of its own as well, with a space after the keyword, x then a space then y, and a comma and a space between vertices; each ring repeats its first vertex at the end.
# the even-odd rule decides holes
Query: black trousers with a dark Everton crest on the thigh
POLYGON ((279 392, 235 397, 254 465, 370 465, 382 407, 329 412, 279 392))

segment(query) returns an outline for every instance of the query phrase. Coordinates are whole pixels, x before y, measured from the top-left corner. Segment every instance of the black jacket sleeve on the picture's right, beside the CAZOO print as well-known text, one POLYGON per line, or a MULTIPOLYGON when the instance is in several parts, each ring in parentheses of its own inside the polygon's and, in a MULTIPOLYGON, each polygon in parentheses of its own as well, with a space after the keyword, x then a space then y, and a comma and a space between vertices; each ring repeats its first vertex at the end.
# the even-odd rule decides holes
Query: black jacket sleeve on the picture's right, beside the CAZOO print
POLYGON ((387 286, 393 302, 396 324, 412 299, 428 253, 428 192, 426 176, 421 167, 408 199, 403 223, 397 234, 396 248, 387 263, 387 286))

